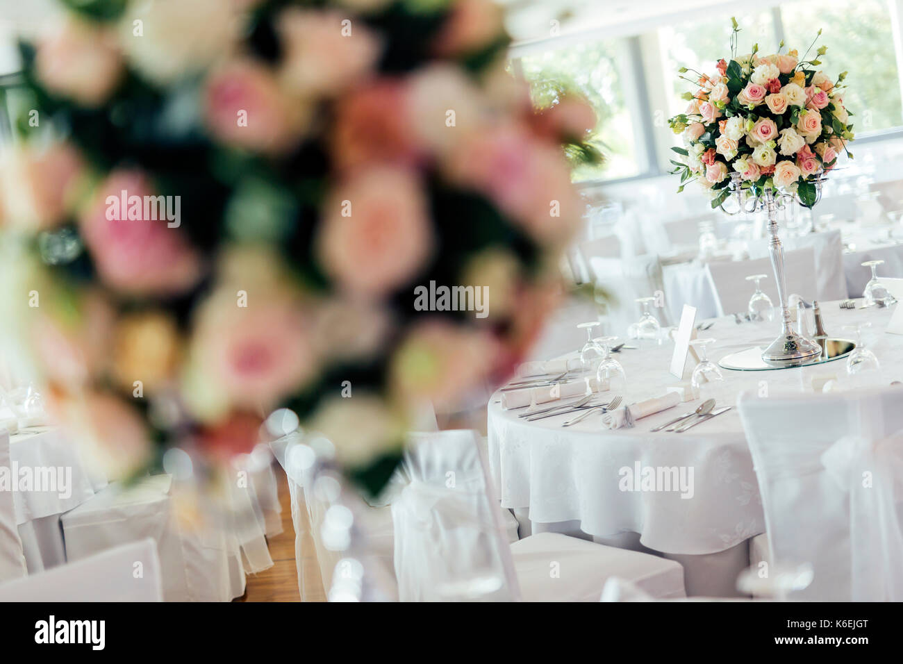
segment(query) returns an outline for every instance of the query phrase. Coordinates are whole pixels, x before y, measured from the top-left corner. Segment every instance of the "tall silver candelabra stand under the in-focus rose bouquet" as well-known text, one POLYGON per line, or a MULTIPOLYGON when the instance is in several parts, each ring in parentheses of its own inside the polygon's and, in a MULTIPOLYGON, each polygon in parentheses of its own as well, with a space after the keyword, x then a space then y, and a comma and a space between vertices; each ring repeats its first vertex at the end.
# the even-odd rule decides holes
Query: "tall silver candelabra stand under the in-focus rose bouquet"
MULTIPOLYGON (((815 202, 813 205, 822 198, 824 180, 824 173, 818 173, 815 176, 815 202)), ((744 189, 741 184, 740 173, 731 173, 731 182, 728 185, 731 195, 721 203, 721 211, 731 216, 740 214, 740 212, 752 213, 757 210, 768 212, 768 235, 771 238, 768 243, 768 253, 771 256, 771 267, 775 271, 777 298, 780 300, 781 307, 780 336, 762 352, 762 361, 771 367, 796 367, 807 364, 821 355, 822 347, 815 341, 806 339, 795 332, 790 325, 790 310, 787 308, 787 280, 784 275, 784 247, 781 244, 781 238, 777 237, 777 210, 794 202, 805 208, 812 206, 801 201, 796 193, 778 192, 770 187, 744 189), (726 210, 724 203, 728 201, 735 201, 737 209, 726 210)))

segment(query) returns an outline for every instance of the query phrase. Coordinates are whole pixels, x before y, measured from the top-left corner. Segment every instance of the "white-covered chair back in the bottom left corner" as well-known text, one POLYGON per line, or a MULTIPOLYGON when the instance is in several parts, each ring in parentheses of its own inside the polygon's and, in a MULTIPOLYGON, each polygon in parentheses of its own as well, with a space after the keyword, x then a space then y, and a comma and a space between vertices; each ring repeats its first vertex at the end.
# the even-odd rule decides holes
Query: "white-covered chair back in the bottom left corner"
POLYGON ((0 602, 163 602, 151 538, 0 584, 0 602))

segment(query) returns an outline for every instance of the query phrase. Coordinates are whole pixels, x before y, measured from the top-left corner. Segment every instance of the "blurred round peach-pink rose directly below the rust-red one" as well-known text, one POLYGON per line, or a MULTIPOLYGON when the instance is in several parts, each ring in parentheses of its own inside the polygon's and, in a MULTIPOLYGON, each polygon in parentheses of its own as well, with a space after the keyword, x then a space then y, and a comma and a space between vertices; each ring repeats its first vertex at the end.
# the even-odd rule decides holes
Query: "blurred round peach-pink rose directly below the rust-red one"
POLYGON ((355 173, 330 194, 322 212, 317 256, 326 274, 351 294, 389 295, 433 253, 427 201, 405 169, 355 173))

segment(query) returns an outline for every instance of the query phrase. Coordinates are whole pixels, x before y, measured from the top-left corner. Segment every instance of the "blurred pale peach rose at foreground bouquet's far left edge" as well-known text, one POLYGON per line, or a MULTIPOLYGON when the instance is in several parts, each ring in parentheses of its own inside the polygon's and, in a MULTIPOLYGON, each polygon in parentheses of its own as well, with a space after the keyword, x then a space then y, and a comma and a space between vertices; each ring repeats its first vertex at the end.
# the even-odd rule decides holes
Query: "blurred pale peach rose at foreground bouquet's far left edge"
POLYGON ((68 143, 53 143, 41 151, 28 144, 14 151, 3 197, 7 223, 33 229, 56 226, 76 202, 84 170, 81 155, 68 143))

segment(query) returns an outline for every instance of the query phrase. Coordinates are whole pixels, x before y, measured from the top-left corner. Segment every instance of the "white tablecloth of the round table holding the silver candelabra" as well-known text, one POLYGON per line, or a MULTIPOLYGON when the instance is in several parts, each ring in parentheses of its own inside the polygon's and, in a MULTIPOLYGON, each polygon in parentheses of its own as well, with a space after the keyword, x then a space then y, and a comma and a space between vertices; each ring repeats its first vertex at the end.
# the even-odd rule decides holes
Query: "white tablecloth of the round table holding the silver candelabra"
MULTIPOLYGON (((822 305, 824 326, 832 336, 849 337, 844 325, 871 323, 865 341, 881 363, 881 369, 870 376, 876 385, 903 379, 903 336, 884 332, 893 309, 848 311, 836 302, 822 305)), ((779 330, 778 323, 737 324, 733 317, 712 320, 712 328, 699 335, 716 340, 708 349, 714 361, 767 344, 779 330)), ((616 356, 627 374, 625 404, 661 395, 667 387, 680 384, 668 372, 672 341, 632 345, 639 348, 616 356)), ((718 407, 735 406, 744 390, 774 396, 781 391, 812 391, 813 379, 845 380, 845 362, 768 371, 721 369, 724 381, 709 387, 718 407)), ((693 366, 691 355, 684 370, 687 383, 693 366)), ((568 428, 562 423, 569 416, 526 422, 517 416, 521 409, 504 410, 498 399, 497 392, 489 400, 490 467, 502 506, 526 514, 534 532, 579 528, 615 546, 620 536, 635 533, 639 548, 682 559, 745 548, 740 545, 765 530, 756 474, 736 408, 677 434, 649 430, 694 410, 700 401, 639 419, 634 428, 609 431, 601 426, 599 415, 568 428), (622 469, 635 471, 637 465, 640 469, 683 468, 688 479, 692 471, 692 491, 682 495, 680 491, 624 490, 622 469)))

